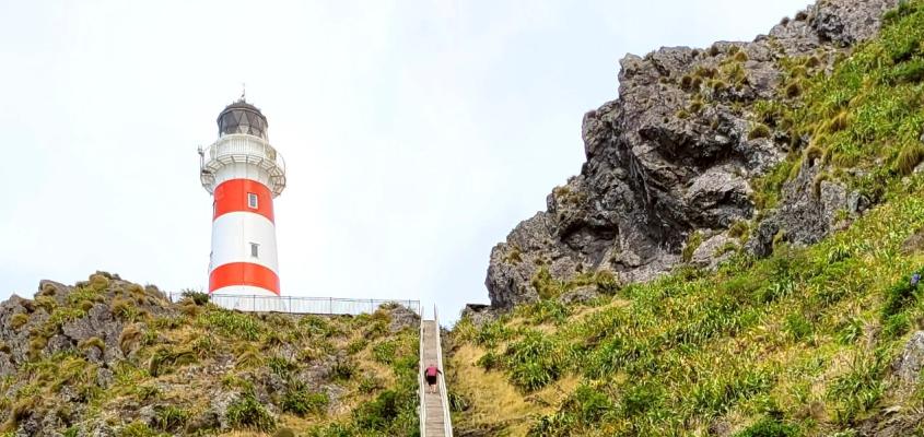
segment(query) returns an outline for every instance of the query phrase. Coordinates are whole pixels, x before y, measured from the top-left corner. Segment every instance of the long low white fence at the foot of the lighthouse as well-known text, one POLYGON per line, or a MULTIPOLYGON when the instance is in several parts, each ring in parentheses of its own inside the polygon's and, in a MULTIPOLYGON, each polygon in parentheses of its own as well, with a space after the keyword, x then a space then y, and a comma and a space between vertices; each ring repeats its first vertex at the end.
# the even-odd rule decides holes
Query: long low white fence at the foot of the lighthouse
MULTIPOLYGON (((178 302, 182 293, 169 293, 171 302, 178 302)), ((289 312, 317 315, 361 315, 375 312, 383 305, 400 305, 420 315, 420 300, 346 299, 339 297, 244 296, 213 294, 209 302, 227 309, 252 312, 289 312)))

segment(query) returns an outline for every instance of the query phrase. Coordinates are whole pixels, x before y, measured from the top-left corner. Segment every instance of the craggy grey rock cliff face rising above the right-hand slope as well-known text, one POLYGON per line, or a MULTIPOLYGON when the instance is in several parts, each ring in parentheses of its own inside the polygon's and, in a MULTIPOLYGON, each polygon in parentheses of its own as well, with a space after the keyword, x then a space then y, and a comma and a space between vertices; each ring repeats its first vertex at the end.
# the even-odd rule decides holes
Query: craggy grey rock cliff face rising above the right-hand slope
POLYGON ((815 134, 773 108, 796 106, 805 78, 830 74, 896 3, 822 0, 750 43, 622 59, 618 98, 584 116, 581 174, 491 251, 492 307, 537 300, 548 279, 625 284, 740 246, 765 256, 774 238, 816 243, 862 212, 873 196, 818 177, 812 160, 772 201, 761 181, 815 134))

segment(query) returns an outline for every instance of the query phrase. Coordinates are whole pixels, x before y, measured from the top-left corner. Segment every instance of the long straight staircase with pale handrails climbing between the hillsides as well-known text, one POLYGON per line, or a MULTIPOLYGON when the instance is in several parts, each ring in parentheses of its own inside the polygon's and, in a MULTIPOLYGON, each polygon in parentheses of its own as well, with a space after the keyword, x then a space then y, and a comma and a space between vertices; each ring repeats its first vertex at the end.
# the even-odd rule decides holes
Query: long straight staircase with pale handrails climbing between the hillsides
POLYGON ((440 323, 436 308, 433 308, 433 320, 420 320, 420 436, 421 437, 452 437, 453 424, 449 418, 449 403, 446 395, 446 379, 441 374, 437 377, 438 392, 428 393, 423 369, 435 364, 443 368, 443 349, 440 344, 440 323))

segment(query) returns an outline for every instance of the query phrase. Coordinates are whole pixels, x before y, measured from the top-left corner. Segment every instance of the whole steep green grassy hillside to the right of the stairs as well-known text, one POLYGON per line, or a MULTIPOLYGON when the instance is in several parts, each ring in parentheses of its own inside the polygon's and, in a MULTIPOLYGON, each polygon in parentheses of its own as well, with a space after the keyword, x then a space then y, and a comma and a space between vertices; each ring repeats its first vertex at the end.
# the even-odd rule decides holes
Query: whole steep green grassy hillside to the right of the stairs
MULTIPOLYGON (((771 256, 735 253, 716 271, 682 268, 622 288, 600 275, 537 275, 539 303, 454 329, 459 434, 922 433, 924 386, 893 364, 924 328, 924 285, 909 285, 924 270, 924 175, 913 173, 924 160, 924 2, 886 19, 833 71, 782 59, 780 98, 753 114, 764 134, 810 139, 755 181, 759 209, 811 166, 823 168, 816 187, 839 181, 878 206, 844 212, 845 229, 818 245, 792 247, 781 234, 771 256), (555 300, 594 284, 592 303, 555 300)), ((747 239, 755 224, 736 227, 747 239)))

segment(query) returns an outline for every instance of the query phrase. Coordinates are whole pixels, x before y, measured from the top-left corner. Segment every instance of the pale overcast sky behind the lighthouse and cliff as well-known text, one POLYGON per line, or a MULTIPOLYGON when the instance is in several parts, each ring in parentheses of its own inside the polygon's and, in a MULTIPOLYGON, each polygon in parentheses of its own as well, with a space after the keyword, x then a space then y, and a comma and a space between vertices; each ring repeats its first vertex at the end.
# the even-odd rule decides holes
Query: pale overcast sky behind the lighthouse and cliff
POLYGON ((282 293, 488 303, 491 248, 580 172, 619 59, 806 0, 0 0, 0 298, 96 270, 206 288, 198 145, 269 119, 282 293))

